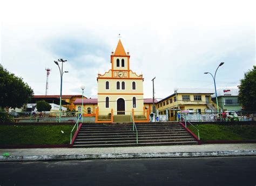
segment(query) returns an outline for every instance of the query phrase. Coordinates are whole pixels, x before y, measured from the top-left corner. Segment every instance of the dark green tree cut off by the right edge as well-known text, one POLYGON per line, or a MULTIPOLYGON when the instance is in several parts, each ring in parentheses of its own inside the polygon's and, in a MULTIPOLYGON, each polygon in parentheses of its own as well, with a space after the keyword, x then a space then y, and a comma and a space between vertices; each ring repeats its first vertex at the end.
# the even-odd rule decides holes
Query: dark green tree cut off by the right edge
POLYGON ((238 101, 245 111, 256 111, 256 66, 240 80, 238 101))

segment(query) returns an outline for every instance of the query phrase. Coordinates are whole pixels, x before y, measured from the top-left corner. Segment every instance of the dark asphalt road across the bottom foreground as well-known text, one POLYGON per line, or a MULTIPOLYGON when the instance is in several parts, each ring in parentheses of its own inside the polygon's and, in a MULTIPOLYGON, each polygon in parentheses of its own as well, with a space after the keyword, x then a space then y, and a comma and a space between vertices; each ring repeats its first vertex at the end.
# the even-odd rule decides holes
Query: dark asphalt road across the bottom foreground
POLYGON ((4 185, 256 185, 256 157, 1 162, 4 185))

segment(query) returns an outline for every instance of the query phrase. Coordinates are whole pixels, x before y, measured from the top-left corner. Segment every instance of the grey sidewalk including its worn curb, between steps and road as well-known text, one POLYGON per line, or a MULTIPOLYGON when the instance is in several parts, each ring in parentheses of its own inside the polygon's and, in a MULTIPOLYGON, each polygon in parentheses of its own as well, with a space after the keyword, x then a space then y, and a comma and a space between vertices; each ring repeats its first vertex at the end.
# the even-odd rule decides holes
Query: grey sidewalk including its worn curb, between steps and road
POLYGON ((255 156, 256 143, 106 148, 0 149, 0 161, 255 156), (6 155, 8 153, 9 155, 6 155))

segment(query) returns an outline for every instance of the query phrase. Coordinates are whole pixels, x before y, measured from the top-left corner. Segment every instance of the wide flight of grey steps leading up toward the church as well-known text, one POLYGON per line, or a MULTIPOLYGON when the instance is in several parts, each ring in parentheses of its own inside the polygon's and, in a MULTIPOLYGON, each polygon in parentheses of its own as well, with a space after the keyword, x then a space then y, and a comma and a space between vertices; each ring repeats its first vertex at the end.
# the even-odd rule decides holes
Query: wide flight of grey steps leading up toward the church
POLYGON ((179 123, 88 123, 83 124, 73 147, 127 147, 198 144, 179 123))

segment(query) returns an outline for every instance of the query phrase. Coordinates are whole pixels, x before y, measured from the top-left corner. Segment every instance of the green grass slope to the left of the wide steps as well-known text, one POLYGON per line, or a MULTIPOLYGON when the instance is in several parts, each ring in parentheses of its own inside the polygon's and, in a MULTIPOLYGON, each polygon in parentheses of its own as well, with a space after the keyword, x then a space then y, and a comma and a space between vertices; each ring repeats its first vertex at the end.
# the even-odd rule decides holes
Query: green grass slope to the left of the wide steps
POLYGON ((72 128, 71 125, 0 126, 0 144, 69 144, 72 128))

